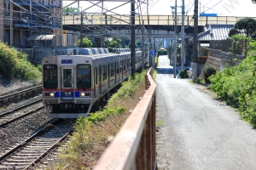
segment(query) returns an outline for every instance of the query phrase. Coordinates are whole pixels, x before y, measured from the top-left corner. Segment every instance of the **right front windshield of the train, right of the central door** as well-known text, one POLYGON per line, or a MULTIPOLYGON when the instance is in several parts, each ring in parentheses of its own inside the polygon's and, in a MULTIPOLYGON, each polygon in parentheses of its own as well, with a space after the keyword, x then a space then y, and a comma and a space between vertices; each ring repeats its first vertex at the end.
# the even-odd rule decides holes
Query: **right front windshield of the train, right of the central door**
POLYGON ((77 88, 91 88, 90 65, 77 65, 77 88))

